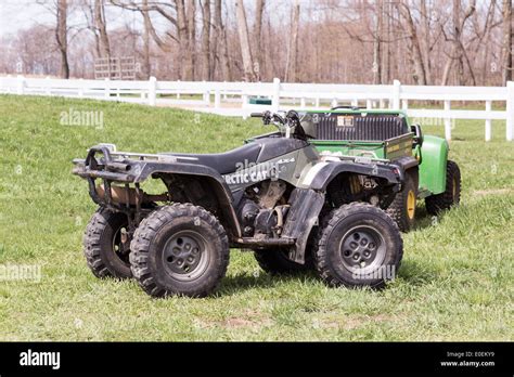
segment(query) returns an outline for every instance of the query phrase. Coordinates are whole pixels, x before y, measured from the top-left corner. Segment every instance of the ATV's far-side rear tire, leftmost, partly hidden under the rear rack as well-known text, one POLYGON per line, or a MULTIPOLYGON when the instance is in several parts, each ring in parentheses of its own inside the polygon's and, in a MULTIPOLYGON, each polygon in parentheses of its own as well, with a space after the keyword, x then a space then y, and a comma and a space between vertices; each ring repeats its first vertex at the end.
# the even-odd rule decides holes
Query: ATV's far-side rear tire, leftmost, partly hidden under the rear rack
POLYGON ((83 235, 83 255, 97 277, 129 278, 130 249, 124 249, 123 230, 128 226, 127 214, 100 207, 92 216, 83 235))

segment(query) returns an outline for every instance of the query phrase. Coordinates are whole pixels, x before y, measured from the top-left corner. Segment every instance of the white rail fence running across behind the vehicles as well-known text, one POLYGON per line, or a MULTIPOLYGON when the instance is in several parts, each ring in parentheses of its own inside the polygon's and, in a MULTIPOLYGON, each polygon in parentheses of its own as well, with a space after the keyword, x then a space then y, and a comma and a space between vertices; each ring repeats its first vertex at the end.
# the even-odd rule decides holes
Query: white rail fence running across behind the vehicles
POLYGON ((390 86, 286 83, 273 82, 206 82, 83 80, 0 77, 0 92, 15 94, 62 95, 107 101, 123 101, 155 105, 191 107, 228 116, 247 117, 264 109, 327 108, 338 104, 364 105, 365 108, 401 108, 409 117, 440 120, 446 139, 451 140, 454 119, 485 121, 485 140, 491 140, 492 120, 505 120, 507 141, 514 136, 514 82, 506 87, 420 87, 402 86, 398 80, 390 86), (250 98, 266 98, 271 105, 252 105, 250 98), (214 101, 213 101, 214 100, 214 101), (438 101, 442 109, 409 108, 409 101, 438 101), (483 110, 452 109, 451 102, 483 102, 483 110), (504 102, 505 110, 492 110, 492 102, 504 102))

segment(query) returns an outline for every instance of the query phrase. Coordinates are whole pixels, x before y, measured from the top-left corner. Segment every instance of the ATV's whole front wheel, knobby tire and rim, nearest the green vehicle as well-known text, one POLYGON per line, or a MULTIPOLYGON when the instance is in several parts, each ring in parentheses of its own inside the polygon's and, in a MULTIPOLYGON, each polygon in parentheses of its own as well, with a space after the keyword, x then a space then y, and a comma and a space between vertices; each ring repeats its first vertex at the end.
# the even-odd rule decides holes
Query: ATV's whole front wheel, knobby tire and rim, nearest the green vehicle
POLYGON ((383 210, 351 203, 323 219, 314 265, 330 286, 381 288, 394 278, 403 255, 400 232, 383 210))

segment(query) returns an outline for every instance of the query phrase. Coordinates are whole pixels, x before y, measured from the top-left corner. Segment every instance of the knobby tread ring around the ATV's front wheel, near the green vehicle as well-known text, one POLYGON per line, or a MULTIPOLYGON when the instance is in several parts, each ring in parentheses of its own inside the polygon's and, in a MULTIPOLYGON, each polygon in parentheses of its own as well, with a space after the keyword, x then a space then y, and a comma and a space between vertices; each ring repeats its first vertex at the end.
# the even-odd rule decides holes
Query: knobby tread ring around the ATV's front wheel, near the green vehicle
MULTIPOLYGON (((347 287, 355 287, 355 285, 347 284, 342 282, 337 276, 334 276, 331 269, 329 268, 329 261, 326 256, 326 245, 327 245, 327 237, 331 234, 332 230, 338 224, 338 222, 355 212, 365 212, 373 210, 375 213, 381 213, 382 219, 389 223, 398 234, 399 238, 399 249, 400 251, 397 255, 397 259, 394 261, 396 269, 400 268, 401 259, 403 257, 403 239, 400 236, 398 225, 396 224, 393 219, 376 207, 368 204, 368 203, 360 203, 354 202, 348 205, 344 205, 339 208, 333 209, 329 212, 323 219, 321 219, 320 229, 317 235, 317 239, 314 242, 316 246, 313 249, 313 257, 314 257, 314 266, 318 271, 321 280, 331 287, 338 287, 338 286, 347 286, 347 287)), ((377 283, 372 286, 372 288, 380 288, 384 286, 384 282, 377 283)))

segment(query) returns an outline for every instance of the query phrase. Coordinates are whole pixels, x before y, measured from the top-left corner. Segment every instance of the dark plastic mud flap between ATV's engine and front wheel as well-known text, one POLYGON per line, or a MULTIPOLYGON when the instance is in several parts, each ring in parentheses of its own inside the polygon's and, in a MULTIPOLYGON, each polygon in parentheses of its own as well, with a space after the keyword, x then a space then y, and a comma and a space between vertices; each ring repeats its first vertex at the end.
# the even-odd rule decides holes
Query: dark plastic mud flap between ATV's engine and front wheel
POLYGON ((305 263, 305 248, 310 231, 325 203, 325 194, 310 188, 295 188, 291 193, 291 209, 282 232, 282 237, 296 239, 290 250, 290 259, 305 263))

